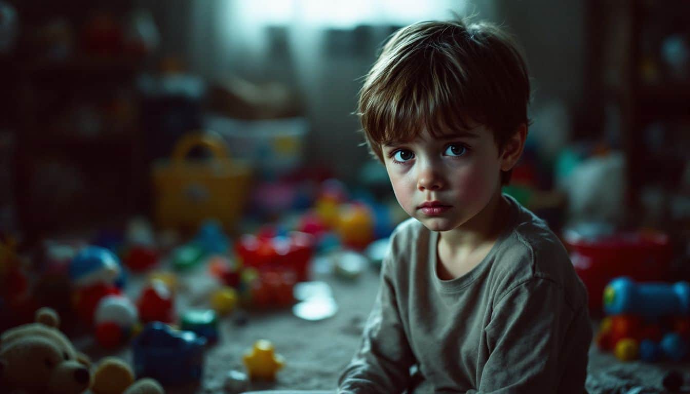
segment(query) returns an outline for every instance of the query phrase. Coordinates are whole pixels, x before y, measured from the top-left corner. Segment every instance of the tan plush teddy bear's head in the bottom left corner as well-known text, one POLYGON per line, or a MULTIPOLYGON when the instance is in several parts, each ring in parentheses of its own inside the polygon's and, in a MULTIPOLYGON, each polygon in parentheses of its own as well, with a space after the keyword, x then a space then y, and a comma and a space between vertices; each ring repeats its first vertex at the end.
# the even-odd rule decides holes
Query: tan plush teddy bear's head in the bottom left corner
POLYGON ((91 382, 88 357, 75 351, 57 326, 55 311, 41 308, 36 323, 10 328, 0 336, 0 389, 56 394, 86 391, 91 382))

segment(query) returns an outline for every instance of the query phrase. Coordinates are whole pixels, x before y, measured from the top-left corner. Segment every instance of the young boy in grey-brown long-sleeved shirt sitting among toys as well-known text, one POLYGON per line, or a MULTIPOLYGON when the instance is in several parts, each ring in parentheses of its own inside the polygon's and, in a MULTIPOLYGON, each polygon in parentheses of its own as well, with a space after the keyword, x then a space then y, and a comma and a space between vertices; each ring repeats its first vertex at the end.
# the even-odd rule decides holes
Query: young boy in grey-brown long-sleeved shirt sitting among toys
POLYGON ((501 193, 529 95, 520 53, 489 23, 415 23, 384 46, 359 116, 412 218, 339 393, 584 391, 586 290, 544 221, 501 193))

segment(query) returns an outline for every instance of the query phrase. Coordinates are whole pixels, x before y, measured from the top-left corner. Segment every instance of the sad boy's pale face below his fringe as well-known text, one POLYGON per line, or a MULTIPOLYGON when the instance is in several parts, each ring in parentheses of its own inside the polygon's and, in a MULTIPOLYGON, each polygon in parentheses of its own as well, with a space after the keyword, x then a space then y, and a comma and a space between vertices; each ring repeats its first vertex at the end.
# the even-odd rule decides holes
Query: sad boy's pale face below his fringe
POLYGON ((485 126, 438 138, 424 131, 382 148, 397 201, 430 230, 462 226, 500 191, 504 163, 485 126))

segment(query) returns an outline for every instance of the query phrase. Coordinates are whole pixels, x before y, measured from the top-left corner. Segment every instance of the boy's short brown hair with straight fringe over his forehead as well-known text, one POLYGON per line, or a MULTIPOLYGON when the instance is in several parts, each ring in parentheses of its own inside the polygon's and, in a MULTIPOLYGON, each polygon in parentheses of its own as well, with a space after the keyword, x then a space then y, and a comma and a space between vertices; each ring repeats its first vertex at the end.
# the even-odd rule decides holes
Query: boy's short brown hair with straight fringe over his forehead
MULTIPOLYGON (((526 65, 506 32, 487 22, 425 21, 388 39, 359 91, 357 115, 381 161, 382 144, 424 129, 435 137, 467 129, 469 119, 492 130, 502 150, 530 123, 529 95, 526 65)), ((502 184, 510 175, 502 173, 502 184)))

